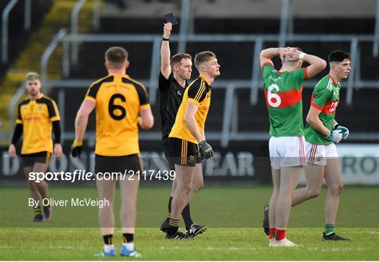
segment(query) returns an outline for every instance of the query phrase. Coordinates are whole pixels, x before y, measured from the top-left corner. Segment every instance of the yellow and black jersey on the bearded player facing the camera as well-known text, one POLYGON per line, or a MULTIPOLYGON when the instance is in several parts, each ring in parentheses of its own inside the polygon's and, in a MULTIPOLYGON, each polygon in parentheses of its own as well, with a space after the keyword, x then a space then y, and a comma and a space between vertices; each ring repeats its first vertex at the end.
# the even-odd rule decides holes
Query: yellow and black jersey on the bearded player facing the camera
POLYGON ((52 122, 60 120, 57 104, 39 94, 36 100, 26 99, 18 105, 16 123, 22 124, 22 154, 48 151, 53 153, 52 122))

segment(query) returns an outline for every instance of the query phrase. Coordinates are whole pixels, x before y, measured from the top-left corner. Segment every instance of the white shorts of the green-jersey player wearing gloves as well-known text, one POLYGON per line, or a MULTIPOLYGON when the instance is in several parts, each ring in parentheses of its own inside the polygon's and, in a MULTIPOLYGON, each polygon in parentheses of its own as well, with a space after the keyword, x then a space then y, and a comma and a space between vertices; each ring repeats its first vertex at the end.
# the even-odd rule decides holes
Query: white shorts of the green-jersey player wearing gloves
POLYGON ((307 162, 313 165, 326 165, 326 161, 331 158, 338 158, 335 144, 312 144, 305 142, 307 152, 307 162))

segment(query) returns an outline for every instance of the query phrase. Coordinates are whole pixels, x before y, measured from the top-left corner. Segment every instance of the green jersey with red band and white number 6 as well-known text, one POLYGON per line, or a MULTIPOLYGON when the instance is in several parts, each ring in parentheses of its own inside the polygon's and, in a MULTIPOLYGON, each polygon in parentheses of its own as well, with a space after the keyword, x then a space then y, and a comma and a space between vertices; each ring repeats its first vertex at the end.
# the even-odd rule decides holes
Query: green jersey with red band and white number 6
POLYGON ((304 135, 302 122, 302 84, 307 68, 290 72, 275 70, 272 62, 262 64, 263 88, 270 116, 270 135, 298 137, 304 135))

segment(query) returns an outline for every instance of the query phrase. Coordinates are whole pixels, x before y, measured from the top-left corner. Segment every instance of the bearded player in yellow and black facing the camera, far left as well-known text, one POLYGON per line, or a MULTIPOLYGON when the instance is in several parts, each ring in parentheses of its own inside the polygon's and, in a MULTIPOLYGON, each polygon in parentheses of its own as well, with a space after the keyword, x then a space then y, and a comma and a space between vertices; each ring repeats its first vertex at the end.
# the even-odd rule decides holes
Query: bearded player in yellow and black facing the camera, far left
MULTIPOLYGON (((56 158, 62 156, 60 145, 60 116, 54 100, 43 95, 39 75, 29 72, 26 77, 28 99, 18 105, 18 117, 15 132, 13 134, 8 153, 11 158, 16 157, 15 144, 23 133, 21 161, 28 179, 30 195, 34 201, 48 198, 48 184, 42 180, 39 183, 29 180, 30 172, 46 172, 51 153, 56 158), (54 130, 55 142, 51 138, 54 130)), ((52 213, 50 206, 44 206, 44 216, 41 206, 34 207, 34 221, 51 221, 52 213)))

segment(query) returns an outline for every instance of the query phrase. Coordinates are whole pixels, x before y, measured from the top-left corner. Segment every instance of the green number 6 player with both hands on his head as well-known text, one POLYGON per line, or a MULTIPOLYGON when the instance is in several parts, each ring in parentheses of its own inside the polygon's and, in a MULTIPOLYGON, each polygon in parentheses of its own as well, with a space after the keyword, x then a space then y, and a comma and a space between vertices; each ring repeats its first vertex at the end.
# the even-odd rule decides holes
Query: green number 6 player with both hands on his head
POLYGON ((304 125, 302 122, 302 85, 318 74, 326 62, 307 55, 298 48, 267 48, 260 53, 263 87, 270 116, 270 161, 273 191, 270 209, 265 207, 265 232, 269 231, 270 247, 295 247, 286 238, 293 191, 305 166, 304 125), (281 69, 274 68, 272 57, 281 58, 281 69), (302 68, 302 62, 308 67, 302 68))

